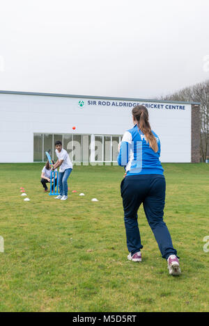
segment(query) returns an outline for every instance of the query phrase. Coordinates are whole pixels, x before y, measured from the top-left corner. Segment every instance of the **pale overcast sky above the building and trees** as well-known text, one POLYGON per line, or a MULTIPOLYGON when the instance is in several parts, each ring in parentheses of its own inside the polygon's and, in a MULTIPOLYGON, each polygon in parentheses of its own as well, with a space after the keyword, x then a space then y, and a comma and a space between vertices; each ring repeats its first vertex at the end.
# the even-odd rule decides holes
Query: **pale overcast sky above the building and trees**
POLYGON ((209 79, 208 0, 0 2, 0 90, 151 99, 209 79))

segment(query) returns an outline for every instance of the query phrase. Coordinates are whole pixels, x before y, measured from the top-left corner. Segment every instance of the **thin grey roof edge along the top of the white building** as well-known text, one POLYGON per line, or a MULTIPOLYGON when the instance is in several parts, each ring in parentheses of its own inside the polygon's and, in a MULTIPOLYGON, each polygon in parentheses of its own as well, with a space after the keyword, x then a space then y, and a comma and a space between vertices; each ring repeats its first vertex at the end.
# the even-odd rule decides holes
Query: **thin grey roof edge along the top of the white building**
POLYGON ((160 99, 136 99, 129 97, 104 97, 104 96, 89 96, 89 95, 68 95, 56 93, 42 93, 42 92, 19 92, 15 90, 0 90, 0 94, 14 94, 14 95, 39 95, 39 96, 52 96, 52 97, 75 97, 79 99, 118 99, 121 101, 144 101, 144 102, 159 102, 159 103, 173 103, 173 104, 196 104, 201 105, 199 102, 185 102, 185 101, 169 101, 160 99))

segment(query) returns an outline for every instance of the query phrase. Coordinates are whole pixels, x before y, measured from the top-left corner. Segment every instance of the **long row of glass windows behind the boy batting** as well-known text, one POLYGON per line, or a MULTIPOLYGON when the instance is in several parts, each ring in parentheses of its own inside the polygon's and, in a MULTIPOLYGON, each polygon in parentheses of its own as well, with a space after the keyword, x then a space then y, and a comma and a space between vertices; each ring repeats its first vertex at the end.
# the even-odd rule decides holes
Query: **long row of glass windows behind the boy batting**
POLYGON ((117 161, 121 136, 34 133, 33 161, 46 162, 45 152, 56 161, 56 140, 61 140, 72 163, 111 163, 117 161))

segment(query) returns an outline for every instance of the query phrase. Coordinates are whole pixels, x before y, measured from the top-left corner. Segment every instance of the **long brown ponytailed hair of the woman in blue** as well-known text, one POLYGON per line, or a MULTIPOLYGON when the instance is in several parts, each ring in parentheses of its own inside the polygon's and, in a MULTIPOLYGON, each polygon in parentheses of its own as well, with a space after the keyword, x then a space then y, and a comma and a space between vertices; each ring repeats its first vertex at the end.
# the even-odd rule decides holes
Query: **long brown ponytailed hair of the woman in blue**
POLYGON ((142 133, 144 133, 146 142, 148 142, 153 151, 157 153, 157 140, 151 131, 148 109, 146 108, 146 106, 143 105, 134 106, 134 108, 132 109, 132 115, 134 117, 134 120, 137 121, 138 128, 141 130, 142 133))

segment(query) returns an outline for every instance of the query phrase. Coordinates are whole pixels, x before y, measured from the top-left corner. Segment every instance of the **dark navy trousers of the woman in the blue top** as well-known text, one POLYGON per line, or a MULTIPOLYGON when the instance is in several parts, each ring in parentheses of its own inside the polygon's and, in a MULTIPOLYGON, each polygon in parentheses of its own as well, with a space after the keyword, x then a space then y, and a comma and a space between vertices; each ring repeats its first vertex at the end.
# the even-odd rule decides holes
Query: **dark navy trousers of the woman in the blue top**
POLYGON ((131 254, 139 252, 143 247, 137 221, 141 203, 162 258, 168 259, 170 254, 177 254, 163 221, 165 189, 166 182, 160 174, 136 174, 125 177, 121 182, 127 249, 131 254))

